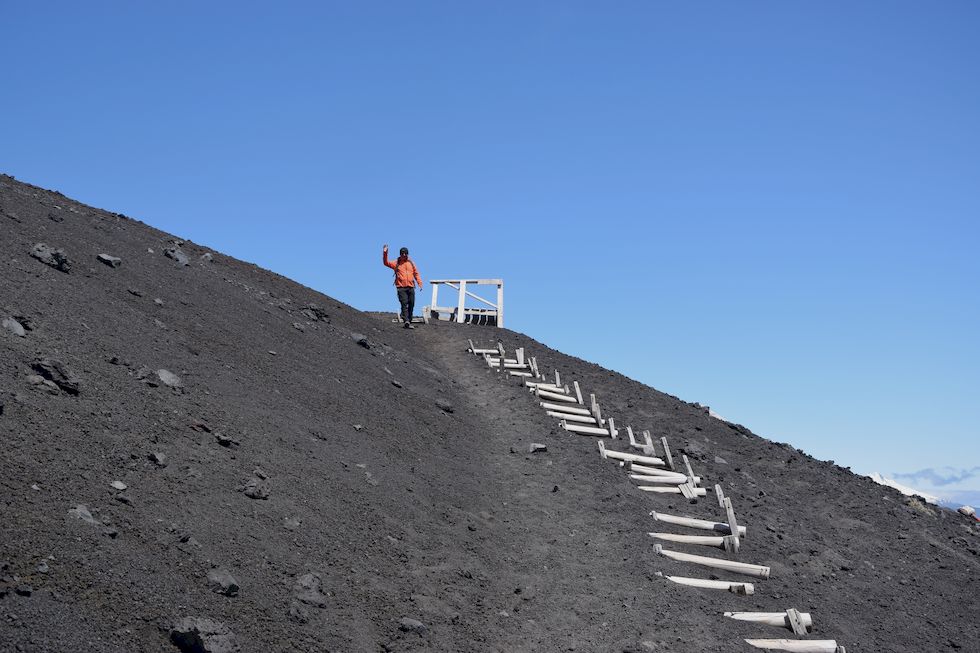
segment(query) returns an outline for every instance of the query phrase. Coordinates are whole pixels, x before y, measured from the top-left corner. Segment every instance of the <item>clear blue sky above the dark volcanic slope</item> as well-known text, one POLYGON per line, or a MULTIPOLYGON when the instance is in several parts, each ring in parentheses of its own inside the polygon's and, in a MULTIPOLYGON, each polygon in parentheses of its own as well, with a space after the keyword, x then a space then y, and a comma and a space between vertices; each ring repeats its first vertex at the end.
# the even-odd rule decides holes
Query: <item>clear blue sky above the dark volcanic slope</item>
POLYGON ((978 28, 972 1, 0 0, 0 170, 363 309, 407 245, 503 277, 557 348, 977 490, 978 28))

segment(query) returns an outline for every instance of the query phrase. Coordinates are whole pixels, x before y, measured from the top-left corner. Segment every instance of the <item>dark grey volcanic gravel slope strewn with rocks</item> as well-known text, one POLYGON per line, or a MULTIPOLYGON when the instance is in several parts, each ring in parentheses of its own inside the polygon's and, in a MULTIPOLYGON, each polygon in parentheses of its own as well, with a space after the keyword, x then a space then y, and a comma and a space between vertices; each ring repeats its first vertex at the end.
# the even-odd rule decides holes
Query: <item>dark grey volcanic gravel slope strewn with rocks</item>
POLYGON ((962 516, 524 335, 405 331, 178 243, 0 177, 0 650, 176 651, 193 618, 212 650, 739 651, 792 635, 724 611, 790 607, 852 652, 980 650, 962 516), (666 581, 712 574, 649 512, 713 496, 638 491, 469 338, 666 436, 772 577, 666 581))

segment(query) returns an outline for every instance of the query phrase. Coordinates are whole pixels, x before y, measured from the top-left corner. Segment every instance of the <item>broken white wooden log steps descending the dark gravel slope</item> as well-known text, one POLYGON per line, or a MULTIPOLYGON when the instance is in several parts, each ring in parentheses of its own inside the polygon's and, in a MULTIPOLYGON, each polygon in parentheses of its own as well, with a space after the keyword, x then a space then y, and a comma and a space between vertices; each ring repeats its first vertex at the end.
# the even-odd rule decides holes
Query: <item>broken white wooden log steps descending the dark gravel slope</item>
MULTIPOLYGON (((516 349, 508 358, 503 344, 494 347, 477 347, 469 341, 470 353, 481 356, 491 369, 504 378, 518 378, 528 392, 535 396, 540 408, 549 417, 558 420, 559 426, 574 436, 599 438, 599 456, 603 460, 619 465, 639 490, 651 494, 682 495, 692 504, 705 498, 708 492, 714 493, 718 511, 724 514, 714 519, 696 519, 682 515, 668 515, 653 511, 650 517, 658 525, 676 526, 694 533, 651 532, 648 535, 655 541, 657 555, 676 562, 687 563, 702 569, 706 575, 748 576, 766 580, 770 568, 765 565, 732 560, 741 553, 742 542, 748 529, 739 524, 731 497, 726 497, 720 485, 713 488, 702 487, 704 479, 695 473, 686 455, 674 457, 666 437, 660 438, 660 451, 649 431, 642 431, 637 437, 632 426, 626 426, 627 438, 620 438, 622 431, 616 427, 612 416, 603 416, 595 394, 588 395, 588 402, 578 381, 571 387, 563 383, 561 373, 554 372, 554 378, 542 374, 538 361, 527 356, 523 348, 516 349), (620 443, 625 449, 619 448, 620 443), (710 534, 705 531, 710 531, 710 534), (720 551, 713 555, 701 555, 675 551, 665 546, 691 545, 703 550, 720 551), (721 556, 721 557, 720 557, 721 556)), ((712 502, 713 503, 713 502, 712 502)), ((735 595, 748 596, 755 593, 755 585, 738 579, 719 580, 717 578, 689 578, 685 576, 665 576, 674 584, 701 589, 717 589, 735 595)), ((773 626, 791 630, 798 639, 746 639, 749 646, 767 651, 796 651, 797 653, 847 653, 835 640, 805 639, 813 629, 813 617, 808 612, 790 608, 785 612, 726 612, 725 618, 748 621, 760 626, 773 626)))

